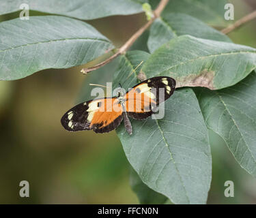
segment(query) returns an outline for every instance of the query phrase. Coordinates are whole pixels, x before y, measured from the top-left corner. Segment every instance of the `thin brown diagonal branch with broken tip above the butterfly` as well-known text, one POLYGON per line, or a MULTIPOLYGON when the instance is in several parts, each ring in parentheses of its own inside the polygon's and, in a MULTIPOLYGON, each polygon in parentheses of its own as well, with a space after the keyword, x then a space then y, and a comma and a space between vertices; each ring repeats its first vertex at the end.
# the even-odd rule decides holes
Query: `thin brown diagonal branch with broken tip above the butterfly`
POLYGON ((94 71, 95 69, 103 67, 104 65, 115 59, 117 56, 124 54, 128 50, 128 48, 130 48, 130 46, 132 46, 132 44, 141 36, 141 34, 144 33, 144 31, 148 27, 150 27, 150 25, 152 25, 152 22, 154 22, 154 20, 156 20, 156 18, 160 16, 161 12, 165 9, 165 6, 167 5, 168 1, 169 0, 161 0, 160 3, 158 4, 158 7, 156 7, 156 10, 154 10, 154 17, 147 21, 147 23, 143 27, 141 27, 136 33, 134 33, 132 37, 130 37, 130 39, 121 48, 119 48, 119 50, 114 55, 112 55, 105 61, 98 63, 94 67, 81 69, 81 72, 83 74, 87 74, 91 71, 94 71))

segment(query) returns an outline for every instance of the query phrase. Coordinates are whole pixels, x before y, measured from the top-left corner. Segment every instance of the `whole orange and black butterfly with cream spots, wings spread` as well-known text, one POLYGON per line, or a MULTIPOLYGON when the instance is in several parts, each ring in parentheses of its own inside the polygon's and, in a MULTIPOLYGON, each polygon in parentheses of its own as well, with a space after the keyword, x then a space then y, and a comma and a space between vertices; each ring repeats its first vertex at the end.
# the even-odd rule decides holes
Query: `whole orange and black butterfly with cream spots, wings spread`
POLYGON ((142 120, 151 116, 157 106, 175 91, 175 80, 157 76, 140 82, 129 91, 122 87, 116 97, 94 99, 78 104, 68 110, 61 124, 68 131, 94 130, 105 133, 116 129, 122 120, 128 134, 132 134, 132 119, 142 120))

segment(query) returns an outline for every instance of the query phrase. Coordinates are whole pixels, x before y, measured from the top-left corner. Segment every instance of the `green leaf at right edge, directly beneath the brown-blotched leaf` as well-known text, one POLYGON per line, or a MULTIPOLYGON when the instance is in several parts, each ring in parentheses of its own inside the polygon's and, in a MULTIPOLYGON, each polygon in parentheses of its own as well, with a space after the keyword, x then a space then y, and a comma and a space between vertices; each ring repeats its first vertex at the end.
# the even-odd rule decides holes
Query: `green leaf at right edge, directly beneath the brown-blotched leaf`
POLYGON ((225 140, 240 166, 256 176, 256 73, 219 91, 197 89, 208 128, 225 140))

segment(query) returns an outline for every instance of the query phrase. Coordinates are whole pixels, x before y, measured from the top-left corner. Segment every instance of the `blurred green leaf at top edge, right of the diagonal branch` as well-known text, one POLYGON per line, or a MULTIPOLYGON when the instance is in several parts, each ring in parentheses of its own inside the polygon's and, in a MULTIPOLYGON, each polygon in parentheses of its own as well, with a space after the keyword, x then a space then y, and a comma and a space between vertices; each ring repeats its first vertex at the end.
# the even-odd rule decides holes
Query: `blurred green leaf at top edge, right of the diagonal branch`
MULTIPOLYGON (((156 7, 159 1, 150 0, 152 7, 156 7)), ((211 25, 227 25, 224 18, 225 4, 227 0, 170 0, 161 16, 165 18, 172 12, 188 14, 211 25)))

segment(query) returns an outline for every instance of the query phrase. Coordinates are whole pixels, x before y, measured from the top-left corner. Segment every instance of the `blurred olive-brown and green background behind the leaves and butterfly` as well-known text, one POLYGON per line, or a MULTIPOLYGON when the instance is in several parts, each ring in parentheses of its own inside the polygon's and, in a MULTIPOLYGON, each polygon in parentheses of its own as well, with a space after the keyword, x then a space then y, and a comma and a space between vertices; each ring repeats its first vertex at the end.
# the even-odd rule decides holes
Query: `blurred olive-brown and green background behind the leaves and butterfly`
MULTIPOLYGON (((231 3, 236 20, 256 9, 253 0, 231 3)), ((18 14, 0 16, 0 21, 18 14)), ((33 15, 41 13, 30 12, 33 15)), ((144 14, 89 21, 116 46, 144 22, 144 14)), ((229 36, 233 42, 256 48, 256 20, 229 36)), ((0 81, 1 204, 139 203, 130 188, 129 164, 115 131, 70 133, 61 127, 61 116, 76 104, 86 80, 81 68, 47 69, 21 80, 0 81), (23 180, 29 181, 29 198, 18 194, 23 180)), ((256 179, 240 168, 221 138, 210 132, 210 140, 213 179, 208 203, 256 204, 256 179), (234 198, 224 196, 227 180, 234 182, 234 198)))

